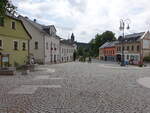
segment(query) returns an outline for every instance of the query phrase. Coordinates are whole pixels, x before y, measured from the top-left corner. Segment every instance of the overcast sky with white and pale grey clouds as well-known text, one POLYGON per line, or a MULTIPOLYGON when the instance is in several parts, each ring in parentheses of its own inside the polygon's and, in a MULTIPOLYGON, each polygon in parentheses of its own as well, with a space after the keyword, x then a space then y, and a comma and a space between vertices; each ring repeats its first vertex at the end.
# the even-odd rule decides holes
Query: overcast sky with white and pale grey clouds
POLYGON ((55 25, 63 38, 71 33, 80 42, 89 42, 97 33, 111 30, 116 36, 120 19, 130 19, 128 33, 150 28, 149 0, 12 0, 19 14, 55 25))

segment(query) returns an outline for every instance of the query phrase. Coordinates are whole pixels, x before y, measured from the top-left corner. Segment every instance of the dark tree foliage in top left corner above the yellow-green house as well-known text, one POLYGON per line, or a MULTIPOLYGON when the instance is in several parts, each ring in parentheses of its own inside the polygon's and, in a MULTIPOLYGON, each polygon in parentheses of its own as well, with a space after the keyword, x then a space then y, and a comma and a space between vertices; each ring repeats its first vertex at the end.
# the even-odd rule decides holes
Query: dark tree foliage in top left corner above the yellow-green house
POLYGON ((0 0, 0 16, 4 16, 6 12, 10 14, 16 13, 15 7, 10 0, 0 0))

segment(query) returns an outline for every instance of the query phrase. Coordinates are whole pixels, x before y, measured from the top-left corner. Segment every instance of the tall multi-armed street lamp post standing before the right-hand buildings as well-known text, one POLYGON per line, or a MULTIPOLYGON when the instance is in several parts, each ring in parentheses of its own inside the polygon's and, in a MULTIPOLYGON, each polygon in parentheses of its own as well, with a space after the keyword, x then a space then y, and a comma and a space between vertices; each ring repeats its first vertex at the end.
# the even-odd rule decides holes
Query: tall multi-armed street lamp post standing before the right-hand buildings
POLYGON ((130 26, 129 26, 129 22, 130 20, 129 19, 126 19, 126 20, 123 20, 121 19, 120 20, 120 31, 123 32, 123 37, 121 38, 121 66, 125 66, 125 59, 124 59, 124 46, 123 46, 123 43, 124 43, 124 38, 125 38, 125 29, 129 30, 130 29, 130 26))

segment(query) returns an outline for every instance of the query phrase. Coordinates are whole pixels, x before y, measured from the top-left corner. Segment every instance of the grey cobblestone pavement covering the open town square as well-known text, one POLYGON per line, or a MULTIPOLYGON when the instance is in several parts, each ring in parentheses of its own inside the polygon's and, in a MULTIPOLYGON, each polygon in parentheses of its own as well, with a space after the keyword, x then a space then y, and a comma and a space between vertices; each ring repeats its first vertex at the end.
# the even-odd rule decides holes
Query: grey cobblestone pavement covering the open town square
POLYGON ((137 83, 142 77, 150 68, 39 66, 30 75, 0 76, 0 113, 150 113, 150 89, 137 83))

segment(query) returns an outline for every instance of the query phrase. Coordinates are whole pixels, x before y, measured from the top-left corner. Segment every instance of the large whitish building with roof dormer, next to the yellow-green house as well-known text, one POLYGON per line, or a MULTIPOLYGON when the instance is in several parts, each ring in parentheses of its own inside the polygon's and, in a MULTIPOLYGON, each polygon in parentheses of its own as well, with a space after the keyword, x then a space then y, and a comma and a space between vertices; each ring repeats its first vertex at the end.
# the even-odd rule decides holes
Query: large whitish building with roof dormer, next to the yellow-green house
POLYGON ((24 26, 32 36, 30 41, 30 56, 37 63, 60 62, 60 38, 56 35, 54 25, 45 26, 32 21, 27 17, 19 16, 24 26))

